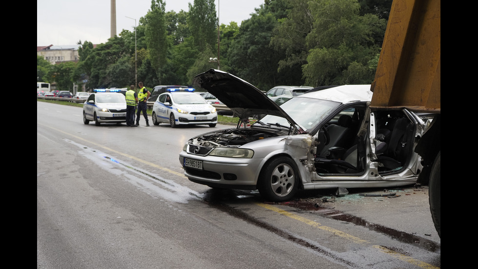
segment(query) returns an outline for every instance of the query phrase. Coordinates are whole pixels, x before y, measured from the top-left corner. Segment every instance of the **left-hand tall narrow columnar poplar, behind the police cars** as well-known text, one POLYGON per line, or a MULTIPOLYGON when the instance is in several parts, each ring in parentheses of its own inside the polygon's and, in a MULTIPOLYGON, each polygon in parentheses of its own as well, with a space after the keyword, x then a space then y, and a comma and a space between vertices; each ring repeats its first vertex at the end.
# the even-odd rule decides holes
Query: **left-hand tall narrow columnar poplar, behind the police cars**
POLYGON ((161 70, 167 64, 167 53, 170 39, 167 37, 165 20, 165 3, 163 0, 152 0, 151 10, 145 16, 145 37, 149 57, 153 69, 160 79, 161 70))

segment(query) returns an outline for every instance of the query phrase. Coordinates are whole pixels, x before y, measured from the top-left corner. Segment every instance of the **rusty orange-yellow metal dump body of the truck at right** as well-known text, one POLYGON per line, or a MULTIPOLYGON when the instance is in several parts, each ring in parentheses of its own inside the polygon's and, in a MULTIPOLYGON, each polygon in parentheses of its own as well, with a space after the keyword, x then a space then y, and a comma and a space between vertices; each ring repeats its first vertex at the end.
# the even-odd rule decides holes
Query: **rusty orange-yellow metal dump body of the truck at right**
POLYGON ((372 108, 440 113, 440 0, 394 0, 372 108))

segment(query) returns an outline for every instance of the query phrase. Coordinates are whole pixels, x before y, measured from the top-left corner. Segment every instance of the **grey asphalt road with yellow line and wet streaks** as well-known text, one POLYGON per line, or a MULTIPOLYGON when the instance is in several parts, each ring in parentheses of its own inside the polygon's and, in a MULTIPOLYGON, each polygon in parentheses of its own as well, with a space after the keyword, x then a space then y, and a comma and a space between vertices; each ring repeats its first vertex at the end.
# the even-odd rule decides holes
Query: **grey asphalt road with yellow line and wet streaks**
POLYGON ((440 268, 426 187, 268 203, 183 176, 187 139, 231 126, 95 126, 81 113, 37 102, 37 268, 440 268))

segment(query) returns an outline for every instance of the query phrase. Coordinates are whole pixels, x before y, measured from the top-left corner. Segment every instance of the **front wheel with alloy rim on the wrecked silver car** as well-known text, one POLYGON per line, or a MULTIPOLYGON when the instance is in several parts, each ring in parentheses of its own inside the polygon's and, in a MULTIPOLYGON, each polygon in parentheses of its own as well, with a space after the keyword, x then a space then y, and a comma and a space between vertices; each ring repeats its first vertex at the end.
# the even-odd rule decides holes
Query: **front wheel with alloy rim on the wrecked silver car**
POLYGON ((299 172, 294 161, 278 157, 269 161, 259 174, 260 195, 272 202, 288 201, 294 197, 299 186, 299 172))

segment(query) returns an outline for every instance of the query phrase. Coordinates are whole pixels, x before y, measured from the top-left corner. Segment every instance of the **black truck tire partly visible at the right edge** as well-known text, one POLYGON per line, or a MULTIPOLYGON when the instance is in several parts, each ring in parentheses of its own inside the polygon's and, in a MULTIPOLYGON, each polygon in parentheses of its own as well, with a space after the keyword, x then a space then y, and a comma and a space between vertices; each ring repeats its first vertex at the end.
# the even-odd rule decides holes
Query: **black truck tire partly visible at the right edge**
POLYGON ((441 166, 441 150, 438 151, 437 157, 435 158, 435 162, 432 166, 432 172, 430 175, 430 183, 428 185, 428 198, 430 202, 430 212, 432 213, 433 224, 437 229, 438 236, 441 238, 440 235, 440 228, 441 228, 441 192, 440 192, 440 166, 441 166))

